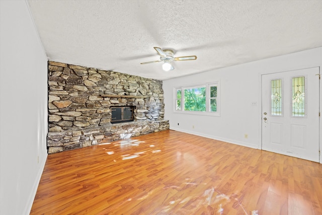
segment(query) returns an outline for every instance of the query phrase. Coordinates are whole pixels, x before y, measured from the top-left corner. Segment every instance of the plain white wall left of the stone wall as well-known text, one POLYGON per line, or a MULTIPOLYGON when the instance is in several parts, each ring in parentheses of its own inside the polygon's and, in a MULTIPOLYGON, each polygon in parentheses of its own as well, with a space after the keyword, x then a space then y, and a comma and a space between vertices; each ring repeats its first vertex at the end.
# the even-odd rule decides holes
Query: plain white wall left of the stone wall
POLYGON ((25 1, 0 1, 0 214, 29 214, 47 158, 47 57, 25 1))

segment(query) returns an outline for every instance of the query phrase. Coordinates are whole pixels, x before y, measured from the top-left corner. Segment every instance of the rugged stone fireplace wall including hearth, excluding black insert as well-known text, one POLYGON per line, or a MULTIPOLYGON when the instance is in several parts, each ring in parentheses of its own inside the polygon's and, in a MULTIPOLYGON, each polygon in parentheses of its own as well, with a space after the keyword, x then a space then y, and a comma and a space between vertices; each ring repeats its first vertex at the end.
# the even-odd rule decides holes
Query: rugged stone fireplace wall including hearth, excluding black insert
POLYGON ((169 129, 162 81, 48 61, 48 153, 169 129), (111 124, 111 106, 134 121, 111 124))

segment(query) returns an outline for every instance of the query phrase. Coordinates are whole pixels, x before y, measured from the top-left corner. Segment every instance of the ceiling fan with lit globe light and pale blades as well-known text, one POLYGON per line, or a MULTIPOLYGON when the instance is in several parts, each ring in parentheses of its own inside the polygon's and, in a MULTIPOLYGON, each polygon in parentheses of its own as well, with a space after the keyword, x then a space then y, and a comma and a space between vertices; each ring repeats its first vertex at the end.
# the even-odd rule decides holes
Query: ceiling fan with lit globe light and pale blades
POLYGON ((164 49, 164 50, 162 50, 159 47, 153 47, 153 48, 160 55, 160 59, 159 60, 154 60, 154 61, 143 62, 141 64, 156 63, 156 62, 162 62, 163 61, 164 64, 162 65, 162 68, 165 71, 169 71, 169 70, 174 69, 174 67, 172 66, 172 62, 173 61, 179 61, 179 60, 195 60, 195 59, 197 59, 197 56, 196 55, 182 56, 182 57, 174 57, 174 52, 171 49, 164 49))

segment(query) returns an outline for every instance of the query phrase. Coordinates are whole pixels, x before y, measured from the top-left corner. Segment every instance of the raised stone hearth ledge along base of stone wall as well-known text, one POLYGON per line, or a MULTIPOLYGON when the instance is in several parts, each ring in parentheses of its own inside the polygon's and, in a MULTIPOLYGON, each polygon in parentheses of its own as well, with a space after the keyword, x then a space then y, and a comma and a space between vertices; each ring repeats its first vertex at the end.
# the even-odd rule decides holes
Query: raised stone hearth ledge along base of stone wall
POLYGON ((157 120, 123 122, 79 130, 48 132, 48 154, 169 130, 169 127, 169 120, 157 120))

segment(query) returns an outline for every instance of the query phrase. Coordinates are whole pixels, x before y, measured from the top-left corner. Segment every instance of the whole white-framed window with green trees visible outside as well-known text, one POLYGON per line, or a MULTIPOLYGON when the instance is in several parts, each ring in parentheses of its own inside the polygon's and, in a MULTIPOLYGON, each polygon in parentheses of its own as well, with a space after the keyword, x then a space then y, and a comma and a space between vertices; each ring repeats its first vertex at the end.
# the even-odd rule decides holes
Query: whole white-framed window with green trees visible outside
POLYGON ((177 113, 219 116, 218 82, 175 88, 177 113))

